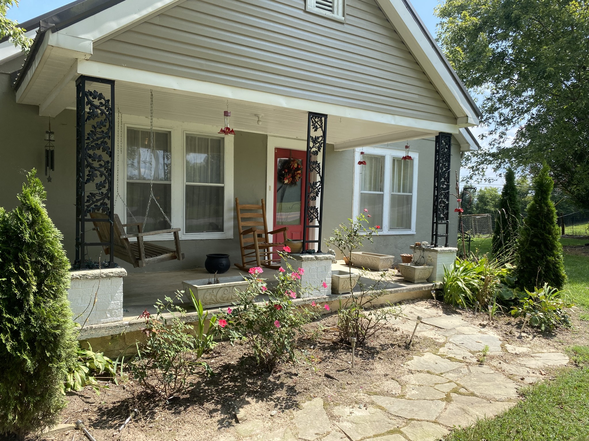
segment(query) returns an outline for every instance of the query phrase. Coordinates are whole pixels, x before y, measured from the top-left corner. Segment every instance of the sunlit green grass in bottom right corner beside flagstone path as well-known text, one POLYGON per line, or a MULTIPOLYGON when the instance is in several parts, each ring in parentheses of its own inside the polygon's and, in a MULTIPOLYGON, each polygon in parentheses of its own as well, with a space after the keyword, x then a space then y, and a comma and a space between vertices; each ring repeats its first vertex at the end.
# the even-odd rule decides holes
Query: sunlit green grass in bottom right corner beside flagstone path
MULTIPOLYGON (((585 348, 586 350, 587 348, 585 348)), ((567 369, 554 381, 524 390, 524 401, 494 419, 459 429, 445 441, 589 439, 589 369, 567 369)))

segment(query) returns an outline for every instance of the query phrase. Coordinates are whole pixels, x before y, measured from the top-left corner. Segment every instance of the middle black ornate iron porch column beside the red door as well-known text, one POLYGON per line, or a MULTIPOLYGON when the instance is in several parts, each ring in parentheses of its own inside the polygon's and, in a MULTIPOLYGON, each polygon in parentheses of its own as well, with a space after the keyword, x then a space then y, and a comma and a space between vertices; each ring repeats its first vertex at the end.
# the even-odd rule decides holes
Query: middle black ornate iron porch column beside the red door
POLYGON ((323 179, 325 178, 325 144, 327 115, 309 112, 307 119, 307 169, 305 172, 305 220, 303 252, 315 249, 321 252, 321 226, 323 218, 323 179), (319 162, 319 155, 322 161, 319 162), (317 248, 310 244, 317 244, 317 248))

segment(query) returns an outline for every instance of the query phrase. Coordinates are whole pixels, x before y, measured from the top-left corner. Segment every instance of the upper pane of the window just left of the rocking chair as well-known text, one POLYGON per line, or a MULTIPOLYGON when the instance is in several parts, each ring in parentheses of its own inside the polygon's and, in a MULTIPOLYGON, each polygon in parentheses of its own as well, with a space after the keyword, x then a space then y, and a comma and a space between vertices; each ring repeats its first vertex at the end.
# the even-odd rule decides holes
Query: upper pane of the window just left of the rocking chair
POLYGON ((220 138, 186 135, 186 182, 223 183, 224 152, 220 138))

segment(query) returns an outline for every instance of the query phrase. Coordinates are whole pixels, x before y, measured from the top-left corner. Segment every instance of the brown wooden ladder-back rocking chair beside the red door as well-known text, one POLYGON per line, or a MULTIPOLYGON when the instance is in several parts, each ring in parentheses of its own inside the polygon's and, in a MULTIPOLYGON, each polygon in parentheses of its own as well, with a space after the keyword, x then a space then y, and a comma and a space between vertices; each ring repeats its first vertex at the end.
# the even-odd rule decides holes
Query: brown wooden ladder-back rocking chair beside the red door
POLYGON ((274 256, 277 255, 272 252, 272 248, 284 246, 288 227, 268 231, 266 202, 264 202, 264 199, 262 199, 262 205, 240 205, 239 199, 235 198, 235 210, 237 212, 237 230, 239 231, 239 245, 241 247, 241 265, 236 263, 235 266, 243 271, 249 270, 254 265, 279 269, 280 259, 273 257, 273 254, 274 256), (257 212, 243 213, 242 210, 255 210, 257 212), (263 227, 264 229, 258 229, 257 227, 263 227), (244 228, 247 229, 244 230, 244 228), (272 243, 270 235, 277 233, 283 233, 283 240, 282 242, 272 243))

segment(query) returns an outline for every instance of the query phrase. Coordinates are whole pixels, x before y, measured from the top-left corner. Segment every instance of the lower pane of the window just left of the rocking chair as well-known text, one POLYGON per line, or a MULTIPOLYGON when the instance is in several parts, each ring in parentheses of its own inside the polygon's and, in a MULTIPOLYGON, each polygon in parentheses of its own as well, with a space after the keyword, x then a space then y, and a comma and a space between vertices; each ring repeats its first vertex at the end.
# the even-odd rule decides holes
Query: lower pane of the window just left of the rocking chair
POLYGON ((186 232, 223 231, 224 188, 221 186, 186 186, 186 232))

